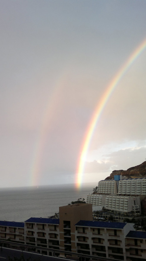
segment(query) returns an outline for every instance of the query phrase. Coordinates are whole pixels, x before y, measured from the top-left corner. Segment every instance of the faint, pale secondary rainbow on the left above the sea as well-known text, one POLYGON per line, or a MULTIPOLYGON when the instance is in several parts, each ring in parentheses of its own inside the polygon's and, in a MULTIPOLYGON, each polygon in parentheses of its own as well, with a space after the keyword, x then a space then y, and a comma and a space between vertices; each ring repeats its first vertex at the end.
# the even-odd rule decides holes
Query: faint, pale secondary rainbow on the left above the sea
MULTIPOLYGON (((69 70, 69 69, 68 69, 69 70)), ((46 137, 49 131, 49 123, 53 118, 53 113, 55 113, 55 106, 59 102, 61 97, 62 90, 65 86, 65 82, 67 81, 68 71, 64 70, 64 72, 60 73, 60 76, 56 80, 53 86, 53 91, 49 95, 49 99, 44 106, 44 113, 41 119, 40 128, 37 133, 36 142, 34 145, 34 152, 32 153, 33 159, 32 164, 30 166, 30 180, 28 185, 38 186, 40 181, 40 169, 42 168, 42 159, 43 152, 46 144, 46 137)))

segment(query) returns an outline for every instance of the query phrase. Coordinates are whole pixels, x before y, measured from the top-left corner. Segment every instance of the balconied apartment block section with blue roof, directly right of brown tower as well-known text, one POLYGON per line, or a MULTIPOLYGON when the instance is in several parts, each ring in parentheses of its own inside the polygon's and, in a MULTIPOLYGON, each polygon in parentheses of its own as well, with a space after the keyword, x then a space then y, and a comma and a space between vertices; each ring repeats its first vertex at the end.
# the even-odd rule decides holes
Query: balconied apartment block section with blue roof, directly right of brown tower
POLYGON ((77 252, 94 257, 126 260, 125 237, 128 223, 79 221, 76 224, 77 252))

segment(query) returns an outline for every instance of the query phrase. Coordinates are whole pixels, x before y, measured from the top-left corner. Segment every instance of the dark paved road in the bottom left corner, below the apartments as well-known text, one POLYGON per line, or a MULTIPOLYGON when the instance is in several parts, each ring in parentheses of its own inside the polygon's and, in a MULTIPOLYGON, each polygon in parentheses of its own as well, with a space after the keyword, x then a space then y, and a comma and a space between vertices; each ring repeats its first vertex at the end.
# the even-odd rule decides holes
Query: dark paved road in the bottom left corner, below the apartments
MULTIPOLYGON (((15 249, 10 249, 10 248, 2 248, 2 251, 0 249, 0 261, 9 261, 9 257, 17 257, 20 258, 22 255, 22 251, 20 250, 15 250, 15 249)), ((30 258, 29 261, 64 261, 67 259, 63 258, 58 258, 58 257, 51 257, 51 256, 45 256, 45 255, 40 255, 40 254, 35 254, 35 253, 30 253, 30 252, 25 252, 23 251, 23 255, 25 260, 27 261, 27 258, 30 258)))

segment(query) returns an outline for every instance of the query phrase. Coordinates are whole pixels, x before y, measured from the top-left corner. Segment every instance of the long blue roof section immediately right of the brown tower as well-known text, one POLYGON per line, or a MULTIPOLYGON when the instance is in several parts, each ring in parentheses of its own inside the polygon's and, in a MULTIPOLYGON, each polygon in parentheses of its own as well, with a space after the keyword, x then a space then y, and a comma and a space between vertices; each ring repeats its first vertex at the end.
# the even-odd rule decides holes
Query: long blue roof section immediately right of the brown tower
POLYGON ((124 228, 126 223, 120 222, 102 222, 102 221, 86 221, 80 220, 75 226, 88 226, 88 227, 98 227, 98 228, 124 228))

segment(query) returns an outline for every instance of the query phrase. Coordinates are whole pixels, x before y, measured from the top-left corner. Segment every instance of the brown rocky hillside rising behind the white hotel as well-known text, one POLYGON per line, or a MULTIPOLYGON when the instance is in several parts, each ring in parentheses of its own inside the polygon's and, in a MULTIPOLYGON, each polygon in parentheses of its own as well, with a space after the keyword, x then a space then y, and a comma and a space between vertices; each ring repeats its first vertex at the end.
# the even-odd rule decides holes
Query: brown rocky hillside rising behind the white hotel
POLYGON ((146 177, 146 161, 138 166, 128 168, 128 170, 113 170, 106 180, 114 179, 114 175, 122 175, 126 176, 127 178, 144 178, 146 177))

